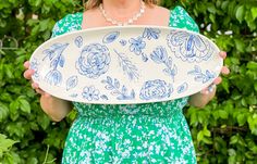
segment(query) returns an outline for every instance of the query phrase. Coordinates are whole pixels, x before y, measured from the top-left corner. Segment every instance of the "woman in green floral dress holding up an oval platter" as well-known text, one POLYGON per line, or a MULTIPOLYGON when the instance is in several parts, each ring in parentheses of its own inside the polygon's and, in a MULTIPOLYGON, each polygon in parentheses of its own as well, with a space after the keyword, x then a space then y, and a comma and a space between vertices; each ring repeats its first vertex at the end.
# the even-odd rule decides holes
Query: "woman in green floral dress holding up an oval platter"
MULTIPOLYGON (((186 11, 176 7, 167 10, 155 0, 88 0, 84 13, 66 15, 59 21, 52 37, 86 28, 113 25, 157 25, 198 31, 186 11)), ((225 53, 220 52, 224 59, 225 53)), ((24 77, 33 71, 25 62, 24 77)), ((222 73, 228 74, 227 67, 222 73)), ((215 84, 219 84, 218 77, 215 84)), ((54 98, 33 83, 41 94, 42 110, 56 122, 71 111, 72 103, 54 98)), ((187 103, 203 108, 216 89, 198 92, 174 101, 134 104, 100 105, 73 102, 78 116, 66 138, 63 164, 76 163, 196 163, 187 123, 182 114, 187 103)))

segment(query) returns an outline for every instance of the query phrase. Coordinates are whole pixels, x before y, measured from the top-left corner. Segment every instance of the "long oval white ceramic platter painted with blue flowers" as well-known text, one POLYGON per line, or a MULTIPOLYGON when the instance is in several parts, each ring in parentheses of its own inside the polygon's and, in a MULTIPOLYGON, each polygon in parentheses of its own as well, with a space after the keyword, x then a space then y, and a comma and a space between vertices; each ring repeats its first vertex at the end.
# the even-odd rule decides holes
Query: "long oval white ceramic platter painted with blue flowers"
POLYGON ((200 91, 223 60, 203 35, 158 26, 102 27, 44 42, 30 58, 33 80, 50 94, 77 102, 132 104, 200 91))

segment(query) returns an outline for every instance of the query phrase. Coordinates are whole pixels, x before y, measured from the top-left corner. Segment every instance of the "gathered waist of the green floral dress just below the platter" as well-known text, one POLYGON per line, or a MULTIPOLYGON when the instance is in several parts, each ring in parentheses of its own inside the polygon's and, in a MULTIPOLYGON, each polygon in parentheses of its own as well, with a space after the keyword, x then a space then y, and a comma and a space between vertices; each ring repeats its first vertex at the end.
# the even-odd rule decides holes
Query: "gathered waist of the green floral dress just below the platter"
POLYGON ((84 117, 118 117, 125 115, 169 117, 178 112, 181 113, 186 103, 187 98, 143 104, 86 104, 73 102, 78 115, 84 117))

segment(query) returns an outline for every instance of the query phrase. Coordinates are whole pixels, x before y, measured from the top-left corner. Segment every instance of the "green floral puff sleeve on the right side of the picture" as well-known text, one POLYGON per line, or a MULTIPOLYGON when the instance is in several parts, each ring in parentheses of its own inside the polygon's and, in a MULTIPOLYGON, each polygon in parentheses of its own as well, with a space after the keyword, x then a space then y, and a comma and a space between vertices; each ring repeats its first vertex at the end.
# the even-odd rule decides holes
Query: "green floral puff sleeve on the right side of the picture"
POLYGON ((185 9, 180 5, 171 10, 170 27, 184 28, 199 33, 199 27, 196 22, 189 16, 185 9))

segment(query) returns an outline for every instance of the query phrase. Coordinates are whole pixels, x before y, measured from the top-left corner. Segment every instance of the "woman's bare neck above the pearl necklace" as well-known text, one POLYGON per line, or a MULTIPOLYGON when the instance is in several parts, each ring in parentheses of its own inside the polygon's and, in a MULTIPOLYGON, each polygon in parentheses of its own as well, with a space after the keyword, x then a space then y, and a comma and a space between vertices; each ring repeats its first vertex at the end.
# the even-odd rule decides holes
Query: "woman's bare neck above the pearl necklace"
POLYGON ((103 9, 109 16, 124 21, 140 10, 140 0, 102 0, 103 9))

